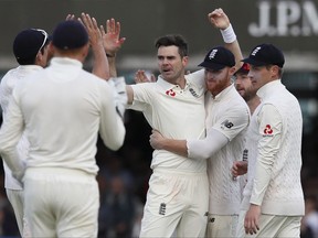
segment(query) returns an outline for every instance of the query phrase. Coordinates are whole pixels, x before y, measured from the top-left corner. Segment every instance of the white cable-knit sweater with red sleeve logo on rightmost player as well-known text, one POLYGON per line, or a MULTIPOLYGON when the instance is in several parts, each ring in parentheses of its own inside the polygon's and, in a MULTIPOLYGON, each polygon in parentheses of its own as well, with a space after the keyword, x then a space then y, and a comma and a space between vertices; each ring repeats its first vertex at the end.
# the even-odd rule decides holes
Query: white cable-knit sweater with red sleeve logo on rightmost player
POLYGON ((262 214, 303 216, 300 106, 279 79, 264 85, 257 95, 261 105, 246 140, 248 172, 242 209, 256 204, 262 214))

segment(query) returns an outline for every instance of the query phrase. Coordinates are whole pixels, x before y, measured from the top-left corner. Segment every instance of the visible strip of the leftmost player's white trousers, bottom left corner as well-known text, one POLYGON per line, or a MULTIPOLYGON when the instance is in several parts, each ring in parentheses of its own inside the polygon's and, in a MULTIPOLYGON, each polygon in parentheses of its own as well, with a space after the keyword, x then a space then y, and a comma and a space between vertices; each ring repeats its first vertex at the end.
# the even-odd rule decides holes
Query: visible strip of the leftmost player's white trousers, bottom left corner
POLYGON ((22 237, 23 234, 23 190, 6 188, 7 197, 13 207, 17 225, 22 237))

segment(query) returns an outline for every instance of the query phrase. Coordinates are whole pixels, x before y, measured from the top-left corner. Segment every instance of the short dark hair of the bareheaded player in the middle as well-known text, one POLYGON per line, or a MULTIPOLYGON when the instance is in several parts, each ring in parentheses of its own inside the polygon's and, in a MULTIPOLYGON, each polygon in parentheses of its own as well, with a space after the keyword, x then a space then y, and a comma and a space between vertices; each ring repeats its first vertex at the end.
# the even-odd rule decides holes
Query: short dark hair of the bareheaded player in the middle
POLYGON ((174 45, 179 48, 179 54, 181 57, 188 56, 188 43, 186 39, 180 34, 169 34, 159 37, 156 43, 156 48, 160 46, 171 46, 174 45))

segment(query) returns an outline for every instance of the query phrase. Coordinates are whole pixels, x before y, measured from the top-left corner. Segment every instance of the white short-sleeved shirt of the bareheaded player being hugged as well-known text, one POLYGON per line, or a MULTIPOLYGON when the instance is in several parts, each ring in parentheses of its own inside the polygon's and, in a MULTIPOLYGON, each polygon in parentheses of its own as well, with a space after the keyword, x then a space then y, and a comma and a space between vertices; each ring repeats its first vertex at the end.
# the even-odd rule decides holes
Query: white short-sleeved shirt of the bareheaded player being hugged
MULTIPOLYGON (((156 83, 131 85, 134 102, 128 108, 144 112, 151 128, 171 139, 201 139, 204 127, 204 71, 186 75, 182 89, 160 76, 156 83)), ((189 160, 165 150, 155 150, 151 169, 205 172, 206 161, 189 160)))

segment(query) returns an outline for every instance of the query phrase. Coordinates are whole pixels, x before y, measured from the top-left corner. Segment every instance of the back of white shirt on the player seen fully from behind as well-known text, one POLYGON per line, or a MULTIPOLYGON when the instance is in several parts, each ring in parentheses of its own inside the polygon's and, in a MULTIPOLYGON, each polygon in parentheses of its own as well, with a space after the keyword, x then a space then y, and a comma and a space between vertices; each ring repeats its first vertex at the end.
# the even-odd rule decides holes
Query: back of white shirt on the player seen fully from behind
POLYGON ((15 98, 30 141, 28 166, 63 163, 66 167, 97 171, 94 158, 99 116, 103 104, 112 105, 113 93, 106 82, 74 62, 61 66, 53 61, 17 87, 15 98))

